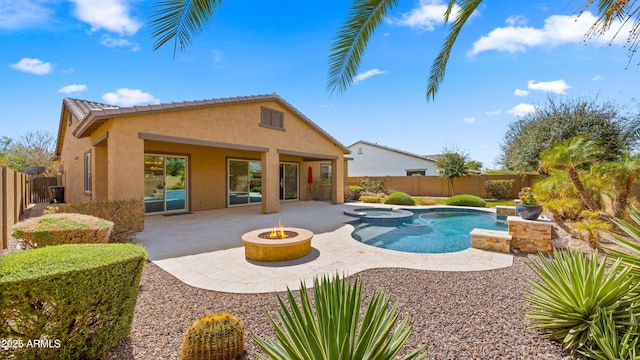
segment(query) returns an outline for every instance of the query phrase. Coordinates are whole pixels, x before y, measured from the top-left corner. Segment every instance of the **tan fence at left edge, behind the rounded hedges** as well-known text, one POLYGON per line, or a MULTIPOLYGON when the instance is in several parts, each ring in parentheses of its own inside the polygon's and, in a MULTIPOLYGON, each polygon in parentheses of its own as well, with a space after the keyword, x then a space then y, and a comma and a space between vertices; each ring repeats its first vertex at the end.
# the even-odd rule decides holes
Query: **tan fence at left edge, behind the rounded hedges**
POLYGON ((0 166, 0 241, 2 249, 9 243, 13 224, 31 204, 29 176, 0 166))

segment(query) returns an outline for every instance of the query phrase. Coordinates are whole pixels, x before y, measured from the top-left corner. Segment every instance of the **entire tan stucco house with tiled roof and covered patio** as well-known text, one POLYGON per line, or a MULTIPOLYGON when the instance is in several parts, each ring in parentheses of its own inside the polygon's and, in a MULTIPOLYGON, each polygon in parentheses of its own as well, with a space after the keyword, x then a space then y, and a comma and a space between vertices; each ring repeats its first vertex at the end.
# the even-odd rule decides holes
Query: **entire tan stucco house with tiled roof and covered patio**
POLYGON ((344 145, 277 94, 118 107, 62 101, 56 157, 67 202, 144 199, 171 213, 308 199, 331 179, 344 201, 344 145), (311 176, 309 176, 311 175, 311 176))

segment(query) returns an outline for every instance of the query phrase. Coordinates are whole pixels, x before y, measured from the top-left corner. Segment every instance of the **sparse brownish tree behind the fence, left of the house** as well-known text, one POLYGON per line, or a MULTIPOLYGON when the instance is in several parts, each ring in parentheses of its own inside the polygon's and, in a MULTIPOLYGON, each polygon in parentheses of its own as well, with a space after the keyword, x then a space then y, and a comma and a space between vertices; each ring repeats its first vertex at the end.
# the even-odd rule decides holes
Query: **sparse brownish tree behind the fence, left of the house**
POLYGON ((5 146, 4 161, 6 165, 16 171, 23 171, 28 166, 44 166, 44 176, 57 174, 56 163, 52 161, 54 155, 55 138, 48 132, 28 132, 17 140, 3 138, 5 146))

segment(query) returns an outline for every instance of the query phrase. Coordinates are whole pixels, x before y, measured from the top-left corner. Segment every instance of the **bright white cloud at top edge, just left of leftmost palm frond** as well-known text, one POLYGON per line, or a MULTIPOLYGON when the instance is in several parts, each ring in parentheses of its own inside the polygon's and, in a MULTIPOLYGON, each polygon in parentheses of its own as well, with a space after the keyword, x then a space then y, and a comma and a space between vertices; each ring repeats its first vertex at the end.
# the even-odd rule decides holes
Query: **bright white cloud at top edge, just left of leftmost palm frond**
POLYGON ((142 23, 129 14, 130 0, 71 0, 75 15, 91 25, 91 31, 104 29, 120 35, 134 35, 142 23))

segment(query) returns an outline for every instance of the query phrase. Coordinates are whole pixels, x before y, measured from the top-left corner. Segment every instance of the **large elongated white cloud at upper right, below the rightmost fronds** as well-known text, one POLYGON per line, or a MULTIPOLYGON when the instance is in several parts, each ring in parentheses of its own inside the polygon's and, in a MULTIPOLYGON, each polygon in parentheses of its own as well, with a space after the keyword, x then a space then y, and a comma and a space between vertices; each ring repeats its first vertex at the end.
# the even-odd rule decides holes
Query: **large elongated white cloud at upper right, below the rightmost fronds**
MULTIPOLYGON (((509 19, 512 19, 510 17, 509 19)), ((578 44, 585 39, 585 34, 596 22, 597 17, 585 11, 578 18, 568 15, 552 15, 544 21, 542 28, 516 25, 517 22, 507 19, 506 27, 492 30, 477 40, 468 55, 474 56, 483 51, 496 50, 509 53, 525 52, 535 46, 556 47, 564 44, 578 44)), ((611 29, 602 37, 594 39, 600 44, 608 43, 619 29, 620 23, 614 22, 611 29)), ((623 33, 621 31, 621 33, 623 33)), ((626 37, 616 37, 613 42, 624 44, 626 37)))

